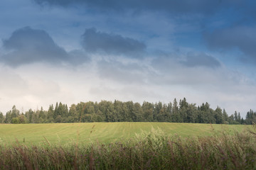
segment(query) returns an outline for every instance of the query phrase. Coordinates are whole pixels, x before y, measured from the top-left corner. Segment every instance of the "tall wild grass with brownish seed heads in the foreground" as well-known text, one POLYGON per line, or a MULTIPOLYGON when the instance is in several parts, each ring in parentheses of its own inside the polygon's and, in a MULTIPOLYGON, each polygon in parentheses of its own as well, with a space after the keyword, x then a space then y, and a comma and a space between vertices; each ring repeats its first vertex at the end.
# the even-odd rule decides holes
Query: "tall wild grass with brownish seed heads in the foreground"
POLYGON ((0 146, 0 169, 256 169, 255 130, 211 137, 167 136, 161 129, 126 142, 0 146))

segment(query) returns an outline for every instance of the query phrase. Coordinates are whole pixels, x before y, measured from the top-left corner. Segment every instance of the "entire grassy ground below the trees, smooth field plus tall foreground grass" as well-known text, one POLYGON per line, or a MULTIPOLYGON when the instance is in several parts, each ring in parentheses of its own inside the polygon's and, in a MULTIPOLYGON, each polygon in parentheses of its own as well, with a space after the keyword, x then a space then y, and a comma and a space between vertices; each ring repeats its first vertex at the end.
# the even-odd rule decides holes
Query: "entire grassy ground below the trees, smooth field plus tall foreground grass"
POLYGON ((0 169, 196 170, 256 167, 256 126, 251 125, 0 125, 0 137, 0 169))

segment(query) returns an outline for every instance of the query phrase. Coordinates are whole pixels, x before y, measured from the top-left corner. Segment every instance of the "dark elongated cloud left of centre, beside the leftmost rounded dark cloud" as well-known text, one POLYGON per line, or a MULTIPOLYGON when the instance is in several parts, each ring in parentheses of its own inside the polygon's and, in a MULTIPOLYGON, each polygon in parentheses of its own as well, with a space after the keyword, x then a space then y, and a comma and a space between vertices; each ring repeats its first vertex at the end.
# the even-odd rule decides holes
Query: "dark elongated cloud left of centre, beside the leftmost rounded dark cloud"
POLYGON ((102 33, 96 28, 88 28, 82 35, 82 46, 87 52, 106 52, 110 55, 139 57, 146 49, 143 42, 121 35, 102 33))

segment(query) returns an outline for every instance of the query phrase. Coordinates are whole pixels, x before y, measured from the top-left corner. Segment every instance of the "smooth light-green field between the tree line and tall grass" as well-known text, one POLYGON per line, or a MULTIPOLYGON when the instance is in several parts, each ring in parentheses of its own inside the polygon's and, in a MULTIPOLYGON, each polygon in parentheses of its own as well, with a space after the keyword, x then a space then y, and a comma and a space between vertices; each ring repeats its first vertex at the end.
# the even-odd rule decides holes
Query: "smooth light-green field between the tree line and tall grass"
POLYGON ((0 145, 16 141, 26 145, 46 143, 68 145, 74 142, 116 142, 128 140, 140 132, 151 129, 164 131, 166 135, 210 136, 220 131, 233 133, 248 125, 210 125, 193 123, 51 123, 51 124, 0 124, 0 145))

